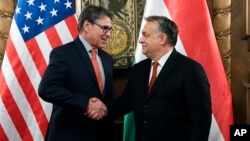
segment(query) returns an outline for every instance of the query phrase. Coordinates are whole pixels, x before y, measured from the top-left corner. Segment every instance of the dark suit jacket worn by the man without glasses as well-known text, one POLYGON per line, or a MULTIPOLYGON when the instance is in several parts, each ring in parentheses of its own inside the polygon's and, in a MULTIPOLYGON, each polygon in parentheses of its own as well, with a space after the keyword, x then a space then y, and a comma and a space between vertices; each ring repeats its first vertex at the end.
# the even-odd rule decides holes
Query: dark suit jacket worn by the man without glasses
POLYGON ((136 141, 207 141, 210 86, 200 64, 172 52, 148 94, 151 60, 132 67, 121 97, 108 104, 110 117, 133 110, 136 141))

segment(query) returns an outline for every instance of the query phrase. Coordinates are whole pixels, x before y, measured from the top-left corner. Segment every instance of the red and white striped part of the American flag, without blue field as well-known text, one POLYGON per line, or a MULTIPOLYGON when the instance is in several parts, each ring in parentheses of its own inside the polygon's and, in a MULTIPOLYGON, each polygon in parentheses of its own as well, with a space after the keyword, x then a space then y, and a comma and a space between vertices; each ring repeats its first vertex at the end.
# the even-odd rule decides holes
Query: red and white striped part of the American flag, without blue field
POLYGON ((38 97, 37 88, 52 48, 78 35, 77 19, 72 15, 27 42, 17 31, 13 19, 0 72, 0 138, 44 140, 51 104, 38 97))

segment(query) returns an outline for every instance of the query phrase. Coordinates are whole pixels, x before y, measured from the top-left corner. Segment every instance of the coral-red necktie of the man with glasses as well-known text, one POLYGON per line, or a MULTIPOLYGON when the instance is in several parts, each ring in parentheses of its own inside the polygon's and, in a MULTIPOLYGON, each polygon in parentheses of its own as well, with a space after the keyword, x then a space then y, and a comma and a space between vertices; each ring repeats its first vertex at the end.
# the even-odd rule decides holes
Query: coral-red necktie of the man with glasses
POLYGON ((102 73, 101 73, 98 61, 96 59, 96 50, 95 49, 91 50, 91 61, 92 61, 92 65, 93 65, 94 70, 95 70, 95 74, 96 74, 96 78, 97 78, 97 81, 98 81, 99 89, 100 89, 100 91, 102 93, 103 92, 102 73))

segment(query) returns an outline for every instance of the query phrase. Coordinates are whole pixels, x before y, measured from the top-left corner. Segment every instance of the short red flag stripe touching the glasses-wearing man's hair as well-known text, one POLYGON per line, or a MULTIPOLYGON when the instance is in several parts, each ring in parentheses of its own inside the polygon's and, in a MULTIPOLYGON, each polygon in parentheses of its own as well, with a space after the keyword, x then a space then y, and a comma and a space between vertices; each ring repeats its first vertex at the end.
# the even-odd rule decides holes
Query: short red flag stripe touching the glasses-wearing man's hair
POLYGON ((78 35, 78 29, 77 29, 77 20, 76 17, 74 15, 66 18, 65 23, 67 24, 67 27, 70 28, 70 34, 72 35, 73 38, 76 38, 76 36, 78 35))

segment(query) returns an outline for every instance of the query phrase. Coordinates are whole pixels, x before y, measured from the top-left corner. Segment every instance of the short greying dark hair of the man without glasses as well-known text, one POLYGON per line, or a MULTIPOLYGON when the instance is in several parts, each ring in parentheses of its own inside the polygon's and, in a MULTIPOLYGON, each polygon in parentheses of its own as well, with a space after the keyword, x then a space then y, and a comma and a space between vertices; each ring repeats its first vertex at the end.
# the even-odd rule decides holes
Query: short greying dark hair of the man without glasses
POLYGON ((158 22, 158 31, 165 33, 168 36, 168 43, 172 46, 176 45, 178 37, 177 25, 165 16, 148 16, 145 18, 147 22, 156 21, 158 22))

